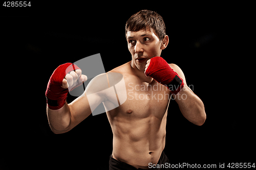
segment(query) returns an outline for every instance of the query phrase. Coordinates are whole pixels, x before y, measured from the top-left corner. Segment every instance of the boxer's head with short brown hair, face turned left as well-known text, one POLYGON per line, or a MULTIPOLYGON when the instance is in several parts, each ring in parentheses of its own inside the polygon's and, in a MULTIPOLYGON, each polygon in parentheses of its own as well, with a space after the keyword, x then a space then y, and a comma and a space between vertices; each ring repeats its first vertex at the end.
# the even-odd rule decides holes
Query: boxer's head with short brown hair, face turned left
POLYGON ((148 59, 160 56, 169 41, 163 18, 148 10, 139 11, 127 20, 125 36, 132 54, 132 66, 139 70, 145 68, 148 59))

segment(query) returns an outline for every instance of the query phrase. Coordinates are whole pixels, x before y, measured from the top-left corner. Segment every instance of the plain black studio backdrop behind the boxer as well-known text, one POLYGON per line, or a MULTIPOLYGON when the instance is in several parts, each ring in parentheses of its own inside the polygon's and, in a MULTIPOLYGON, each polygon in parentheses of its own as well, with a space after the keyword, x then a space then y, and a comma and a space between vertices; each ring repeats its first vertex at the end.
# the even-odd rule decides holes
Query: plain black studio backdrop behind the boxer
MULTIPOLYGON (((105 71, 129 62, 125 22, 142 9, 163 17, 169 44, 161 56, 183 70, 207 114, 205 124, 198 127, 170 101, 164 150, 170 163, 218 167, 224 162, 253 162, 251 114, 240 110, 244 108, 236 90, 225 83, 233 78, 233 65, 239 63, 240 49, 234 46, 241 37, 236 27, 241 21, 239 10, 216 4, 116 8, 116 4, 106 3, 93 9, 84 4, 31 5, 30 9, 1 7, 1 51, 9 68, 4 70, 9 70, 15 83, 8 85, 10 98, 6 97, 4 105, 9 111, 2 120, 5 144, 0 168, 108 169, 113 134, 106 114, 90 115, 70 132, 53 134, 45 91, 60 64, 97 53, 105 71)), ((69 95, 68 103, 74 99, 69 95)))

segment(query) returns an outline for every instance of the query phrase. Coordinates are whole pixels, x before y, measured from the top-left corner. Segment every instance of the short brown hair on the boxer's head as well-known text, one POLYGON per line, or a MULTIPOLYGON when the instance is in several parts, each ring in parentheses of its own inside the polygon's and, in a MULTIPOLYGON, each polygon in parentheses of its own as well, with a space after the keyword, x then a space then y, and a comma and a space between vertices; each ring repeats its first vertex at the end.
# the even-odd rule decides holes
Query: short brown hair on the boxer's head
POLYGON ((147 27, 154 29, 160 40, 164 38, 166 28, 162 16, 149 10, 141 10, 127 20, 125 36, 128 31, 146 30, 147 27))

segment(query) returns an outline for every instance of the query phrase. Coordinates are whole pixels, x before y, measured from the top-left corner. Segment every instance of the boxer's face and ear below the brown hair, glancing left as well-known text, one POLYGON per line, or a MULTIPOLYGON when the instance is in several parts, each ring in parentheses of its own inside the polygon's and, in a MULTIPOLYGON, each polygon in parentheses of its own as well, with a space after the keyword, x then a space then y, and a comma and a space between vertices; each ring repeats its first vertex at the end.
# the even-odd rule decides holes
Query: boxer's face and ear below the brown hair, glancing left
POLYGON ((143 71, 146 61, 152 57, 160 56, 168 44, 168 36, 166 35, 160 41, 153 29, 143 29, 137 32, 128 31, 126 40, 128 49, 132 54, 132 67, 137 67, 143 71))

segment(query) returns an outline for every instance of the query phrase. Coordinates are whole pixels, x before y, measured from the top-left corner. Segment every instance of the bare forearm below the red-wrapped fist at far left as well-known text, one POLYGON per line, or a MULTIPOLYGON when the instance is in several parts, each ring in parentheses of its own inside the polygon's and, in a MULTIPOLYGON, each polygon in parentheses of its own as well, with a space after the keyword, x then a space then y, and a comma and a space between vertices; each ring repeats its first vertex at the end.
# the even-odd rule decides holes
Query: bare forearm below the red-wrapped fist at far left
POLYGON ((70 108, 67 102, 58 110, 51 110, 47 106, 48 122, 54 133, 65 133, 69 131, 71 123, 70 115, 70 108))

